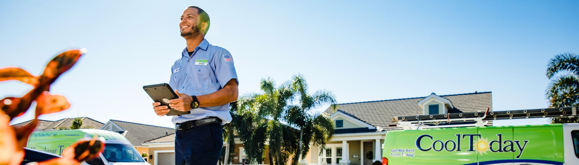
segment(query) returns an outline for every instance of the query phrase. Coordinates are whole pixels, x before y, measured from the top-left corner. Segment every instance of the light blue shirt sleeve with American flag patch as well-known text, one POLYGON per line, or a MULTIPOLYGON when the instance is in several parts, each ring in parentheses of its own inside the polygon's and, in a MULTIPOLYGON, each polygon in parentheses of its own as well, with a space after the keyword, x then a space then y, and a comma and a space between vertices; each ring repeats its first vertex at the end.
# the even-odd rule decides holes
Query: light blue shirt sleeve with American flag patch
POLYGON ((215 52, 213 55, 213 64, 215 66, 215 78, 217 78, 217 82, 221 85, 221 88, 225 87, 225 84, 232 78, 236 78, 236 83, 239 85, 237 72, 233 66, 233 57, 228 50, 221 48, 221 50, 215 52))

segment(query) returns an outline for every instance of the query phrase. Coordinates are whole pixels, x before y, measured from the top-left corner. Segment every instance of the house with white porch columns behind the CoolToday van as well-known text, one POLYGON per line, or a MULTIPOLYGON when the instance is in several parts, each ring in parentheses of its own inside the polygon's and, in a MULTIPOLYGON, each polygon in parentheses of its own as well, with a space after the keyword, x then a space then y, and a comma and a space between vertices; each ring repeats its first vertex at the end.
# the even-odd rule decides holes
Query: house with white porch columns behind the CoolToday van
MULTIPOLYGON (((474 92, 457 95, 431 95, 420 98, 378 100, 339 104, 339 110, 324 111, 334 122, 334 137, 321 155, 318 147, 310 147, 306 161, 311 164, 365 165, 382 162, 382 145, 386 132, 401 130, 394 117, 446 113, 492 111, 492 93, 474 92)), ((474 122, 457 126, 474 126, 474 122)), ((492 121, 486 126, 492 126, 492 121)))

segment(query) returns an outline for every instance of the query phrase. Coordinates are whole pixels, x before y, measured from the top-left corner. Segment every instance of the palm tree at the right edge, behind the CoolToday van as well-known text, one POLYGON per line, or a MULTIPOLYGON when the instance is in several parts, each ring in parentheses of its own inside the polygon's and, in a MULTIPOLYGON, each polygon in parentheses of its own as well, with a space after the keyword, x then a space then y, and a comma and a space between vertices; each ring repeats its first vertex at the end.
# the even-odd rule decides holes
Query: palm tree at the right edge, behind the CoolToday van
MULTIPOLYGON (((577 54, 558 54, 551 58, 547 67, 547 99, 551 107, 579 105, 579 57, 577 54)), ((579 118, 551 118, 551 123, 579 122, 579 118)))

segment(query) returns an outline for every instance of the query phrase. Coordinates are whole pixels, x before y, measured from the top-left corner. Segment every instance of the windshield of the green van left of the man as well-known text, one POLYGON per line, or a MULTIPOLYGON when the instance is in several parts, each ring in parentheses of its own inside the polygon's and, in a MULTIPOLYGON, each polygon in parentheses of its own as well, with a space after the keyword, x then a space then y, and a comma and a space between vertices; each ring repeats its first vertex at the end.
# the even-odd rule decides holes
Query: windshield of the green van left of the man
POLYGON ((129 144, 105 144, 102 155, 108 162, 145 162, 137 150, 129 144))

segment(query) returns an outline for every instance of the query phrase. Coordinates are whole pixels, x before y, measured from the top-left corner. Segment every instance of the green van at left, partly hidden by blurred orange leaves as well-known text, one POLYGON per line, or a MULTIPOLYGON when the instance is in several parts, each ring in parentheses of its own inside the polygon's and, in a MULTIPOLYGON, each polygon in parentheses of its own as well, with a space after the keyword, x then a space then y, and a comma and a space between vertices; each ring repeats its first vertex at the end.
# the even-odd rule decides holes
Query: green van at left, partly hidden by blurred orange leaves
POLYGON ((26 148, 62 155, 63 150, 76 141, 98 137, 105 142, 105 149, 98 158, 82 164, 90 165, 151 165, 146 163, 137 149, 122 135, 100 129, 56 130, 30 134, 26 148))

